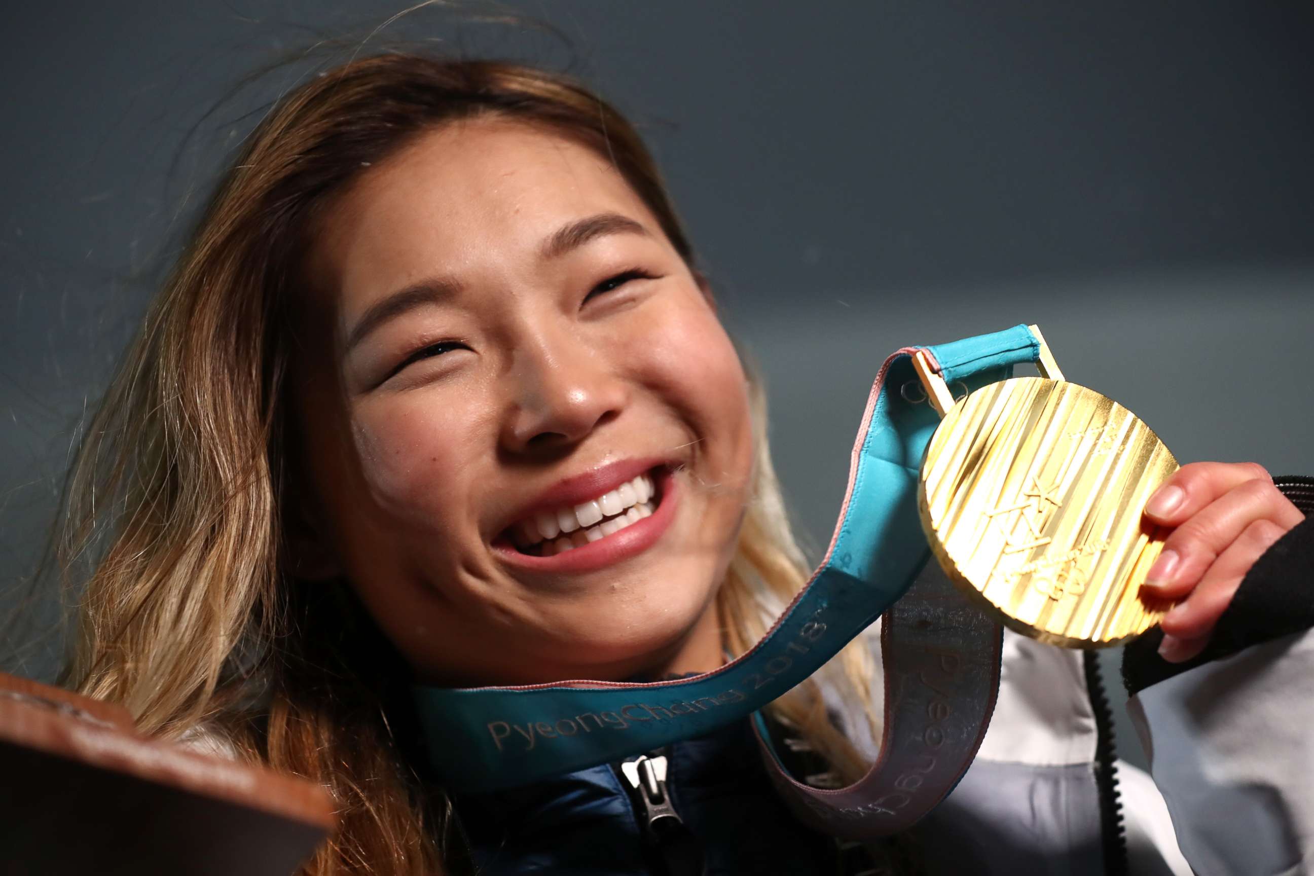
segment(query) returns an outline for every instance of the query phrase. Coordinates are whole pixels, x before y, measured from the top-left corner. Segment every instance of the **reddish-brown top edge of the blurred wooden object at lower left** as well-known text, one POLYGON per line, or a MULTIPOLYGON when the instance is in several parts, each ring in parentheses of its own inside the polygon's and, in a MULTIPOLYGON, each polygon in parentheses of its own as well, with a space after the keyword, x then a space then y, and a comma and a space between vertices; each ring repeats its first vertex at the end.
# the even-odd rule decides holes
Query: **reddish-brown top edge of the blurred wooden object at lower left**
POLYGON ((223 800, 326 833, 336 823, 332 800, 321 785, 267 767, 187 751, 171 742, 143 739, 106 724, 0 696, 0 743, 223 800))

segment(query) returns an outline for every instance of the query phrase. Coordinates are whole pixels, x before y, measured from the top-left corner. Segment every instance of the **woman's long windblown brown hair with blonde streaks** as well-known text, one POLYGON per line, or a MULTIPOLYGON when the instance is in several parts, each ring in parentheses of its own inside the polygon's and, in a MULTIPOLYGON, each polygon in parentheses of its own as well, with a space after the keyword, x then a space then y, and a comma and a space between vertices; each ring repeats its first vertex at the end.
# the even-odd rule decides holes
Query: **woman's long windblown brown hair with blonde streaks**
MULTIPOLYGON (((340 829, 306 873, 440 872, 451 843, 444 796, 419 787, 385 713, 394 667, 353 646, 363 612, 346 588, 306 599, 284 565, 294 489, 284 377, 305 236, 359 168, 482 116, 545 126, 608 158, 694 267, 637 133, 577 81, 487 60, 355 59, 286 95, 251 134, 113 378, 67 490, 60 565, 79 588, 79 623, 66 683, 124 704, 146 733, 206 728, 239 756, 326 785, 340 829)), ((807 575, 759 386, 753 402, 756 491, 717 596, 736 653, 807 575)), ((836 666, 834 683, 870 713, 865 649, 836 666)), ((858 768, 816 684, 773 709, 842 774, 858 768)))

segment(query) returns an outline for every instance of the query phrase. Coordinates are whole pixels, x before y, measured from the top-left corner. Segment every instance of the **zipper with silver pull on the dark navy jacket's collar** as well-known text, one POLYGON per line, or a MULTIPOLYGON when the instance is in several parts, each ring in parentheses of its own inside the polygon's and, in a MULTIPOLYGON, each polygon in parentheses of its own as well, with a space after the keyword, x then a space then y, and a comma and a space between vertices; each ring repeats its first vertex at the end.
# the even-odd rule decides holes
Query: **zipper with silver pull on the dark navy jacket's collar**
POLYGON ((612 764, 629 793, 639 830, 664 876, 703 876, 703 847, 675 810, 666 787, 670 749, 662 747, 612 764))

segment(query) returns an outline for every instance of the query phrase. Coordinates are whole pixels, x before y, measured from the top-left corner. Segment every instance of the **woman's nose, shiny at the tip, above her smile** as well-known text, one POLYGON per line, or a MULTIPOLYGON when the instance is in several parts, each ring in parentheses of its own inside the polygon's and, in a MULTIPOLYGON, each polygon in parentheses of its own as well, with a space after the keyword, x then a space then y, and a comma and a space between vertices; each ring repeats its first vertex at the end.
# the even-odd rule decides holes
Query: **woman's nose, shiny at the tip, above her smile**
POLYGON ((573 339, 522 348, 511 369, 512 397, 502 447, 514 453, 578 444, 615 419, 628 389, 606 357, 573 339))

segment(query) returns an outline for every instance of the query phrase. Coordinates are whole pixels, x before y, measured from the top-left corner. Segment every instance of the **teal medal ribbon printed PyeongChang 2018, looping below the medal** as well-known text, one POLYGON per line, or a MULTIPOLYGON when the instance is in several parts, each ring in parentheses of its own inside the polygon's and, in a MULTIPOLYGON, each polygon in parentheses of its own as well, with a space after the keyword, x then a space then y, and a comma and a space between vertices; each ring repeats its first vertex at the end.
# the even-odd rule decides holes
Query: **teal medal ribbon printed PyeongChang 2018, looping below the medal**
POLYGON ((855 839, 896 833, 940 802, 975 756, 993 711, 1000 628, 934 565, 918 577, 930 552, 917 482, 940 424, 929 405, 900 391, 909 383, 921 391, 909 359, 918 349, 946 383, 971 390, 1034 362, 1039 343, 1016 326, 905 347, 886 360, 867 398, 825 559, 762 641, 725 666, 652 683, 415 687, 440 779, 453 791, 495 791, 706 734, 779 697, 886 615, 882 751, 861 781, 841 789, 795 781, 774 756, 761 716, 754 725, 787 802, 829 833, 855 839))

